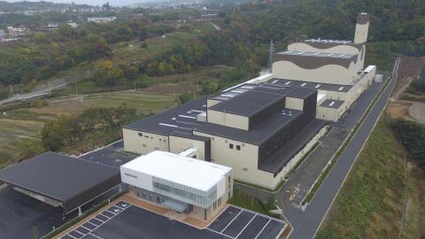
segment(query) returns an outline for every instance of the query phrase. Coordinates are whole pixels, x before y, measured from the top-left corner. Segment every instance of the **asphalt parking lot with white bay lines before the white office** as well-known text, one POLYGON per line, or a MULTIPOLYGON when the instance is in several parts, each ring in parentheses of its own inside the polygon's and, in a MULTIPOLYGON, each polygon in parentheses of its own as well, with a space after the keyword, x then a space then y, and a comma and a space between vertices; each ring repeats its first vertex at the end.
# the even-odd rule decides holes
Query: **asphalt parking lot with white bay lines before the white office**
POLYGON ((210 227, 198 229, 133 204, 120 202, 63 236, 62 239, 274 239, 282 220, 229 206, 210 227))

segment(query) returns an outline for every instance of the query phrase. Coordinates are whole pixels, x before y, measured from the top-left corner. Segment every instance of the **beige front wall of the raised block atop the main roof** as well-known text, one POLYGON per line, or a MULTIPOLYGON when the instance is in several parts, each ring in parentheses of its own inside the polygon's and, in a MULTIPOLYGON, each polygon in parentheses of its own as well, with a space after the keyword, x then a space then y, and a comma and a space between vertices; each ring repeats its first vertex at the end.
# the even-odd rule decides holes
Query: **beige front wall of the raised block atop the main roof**
POLYGON ((243 130, 249 129, 249 118, 227 112, 207 111, 207 120, 210 123, 227 127, 236 127, 243 130))

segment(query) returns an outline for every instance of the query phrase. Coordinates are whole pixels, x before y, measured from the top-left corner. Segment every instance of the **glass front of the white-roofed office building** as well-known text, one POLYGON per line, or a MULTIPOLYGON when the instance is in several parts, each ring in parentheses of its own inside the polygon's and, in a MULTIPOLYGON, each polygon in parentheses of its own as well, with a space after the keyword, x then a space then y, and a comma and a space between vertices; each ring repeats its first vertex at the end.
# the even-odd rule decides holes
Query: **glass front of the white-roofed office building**
POLYGON ((210 207, 217 200, 217 187, 205 192, 156 177, 152 177, 152 184, 155 193, 202 208, 210 207))

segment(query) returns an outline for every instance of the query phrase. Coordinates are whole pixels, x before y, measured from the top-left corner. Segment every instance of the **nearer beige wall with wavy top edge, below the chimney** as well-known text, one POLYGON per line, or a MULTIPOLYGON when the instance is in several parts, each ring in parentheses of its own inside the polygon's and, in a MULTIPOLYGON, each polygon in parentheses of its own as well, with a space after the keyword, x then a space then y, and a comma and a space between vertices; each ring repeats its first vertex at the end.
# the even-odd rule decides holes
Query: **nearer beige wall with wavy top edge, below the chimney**
POLYGON ((274 77, 288 80, 347 85, 354 80, 355 73, 354 63, 348 69, 344 66, 327 65, 311 70, 284 60, 273 63, 274 77))

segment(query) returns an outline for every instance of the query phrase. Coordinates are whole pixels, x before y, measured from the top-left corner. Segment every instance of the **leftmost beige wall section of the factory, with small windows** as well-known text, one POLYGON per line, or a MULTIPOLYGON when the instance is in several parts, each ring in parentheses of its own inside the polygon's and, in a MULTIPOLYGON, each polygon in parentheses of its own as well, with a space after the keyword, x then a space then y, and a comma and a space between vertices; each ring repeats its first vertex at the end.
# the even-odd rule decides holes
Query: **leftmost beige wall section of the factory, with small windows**
POLYGON ((168 136, 156 135, 133 129, 123 128, 124 150, 137 154, 146 154, 154 150, 169 151, 168 136), (142 134, 142 135, 139 135, 142 134))

